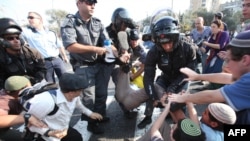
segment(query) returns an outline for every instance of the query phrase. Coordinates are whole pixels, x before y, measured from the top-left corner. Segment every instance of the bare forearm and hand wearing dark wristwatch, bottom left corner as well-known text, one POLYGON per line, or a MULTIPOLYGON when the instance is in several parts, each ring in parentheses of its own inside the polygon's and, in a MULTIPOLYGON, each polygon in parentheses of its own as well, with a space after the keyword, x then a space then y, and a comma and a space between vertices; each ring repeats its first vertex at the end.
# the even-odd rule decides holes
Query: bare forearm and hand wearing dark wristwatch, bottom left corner
MULTIPOLYGON (((17 124, 24 123, 23 115, 1 115, 0 116, 0 128, 11 127, 17 124)), ((37 127, 47 127, 42 121, 38 120, 34 116, 29 118, 29 124, 37 127)))

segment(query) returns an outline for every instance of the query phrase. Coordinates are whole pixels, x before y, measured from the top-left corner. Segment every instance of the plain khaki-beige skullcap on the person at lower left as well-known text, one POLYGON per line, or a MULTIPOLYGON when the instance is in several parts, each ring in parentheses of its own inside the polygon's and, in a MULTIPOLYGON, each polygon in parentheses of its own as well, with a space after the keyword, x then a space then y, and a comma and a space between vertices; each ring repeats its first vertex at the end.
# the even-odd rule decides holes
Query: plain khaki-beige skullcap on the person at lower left
POLYGON ((4 82, 4 89, 6 91, 17 91, 23 89, 30 83, 29 79, 24 76, 10 76, 4 82))

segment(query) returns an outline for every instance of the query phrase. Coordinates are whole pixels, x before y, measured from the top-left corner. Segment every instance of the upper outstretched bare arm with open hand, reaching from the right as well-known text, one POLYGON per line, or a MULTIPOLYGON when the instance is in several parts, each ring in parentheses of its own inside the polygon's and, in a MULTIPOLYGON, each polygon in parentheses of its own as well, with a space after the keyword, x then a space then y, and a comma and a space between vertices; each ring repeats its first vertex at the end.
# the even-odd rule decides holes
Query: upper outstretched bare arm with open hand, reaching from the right
POLYGON ((181 68, 180 71, 188 76, 185 80, 205 80, 219 84, 231 84, 233 82, 232 74, 230 73, 210 73, 210 74, 198 74, 189 68, 181 68))

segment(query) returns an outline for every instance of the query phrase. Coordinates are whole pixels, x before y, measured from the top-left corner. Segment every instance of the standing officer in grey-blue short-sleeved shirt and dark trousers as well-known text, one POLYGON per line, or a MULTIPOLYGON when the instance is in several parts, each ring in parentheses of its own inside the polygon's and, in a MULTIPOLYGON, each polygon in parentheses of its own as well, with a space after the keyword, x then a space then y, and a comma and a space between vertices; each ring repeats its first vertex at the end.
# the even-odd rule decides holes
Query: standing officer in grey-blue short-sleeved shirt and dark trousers
MULTIPOLYGON (((75 15, 67 15, 61 27, 62 41, 70 53, 70 63, 76 74, 86 77, 88 88, 83 91, 83 103, 94 112, 106 117, 106 99, 109 70, 103 69, 101 56, 105 54, 103 47, 108 34, 101 23, 92 17, 97 0, 77 0, 78 11, 75 15)), ((85 117, 82 115, 82 119, 85 117)), ((99 121, 88 120, 87 129, 95 134, 104 133, 99 121)))

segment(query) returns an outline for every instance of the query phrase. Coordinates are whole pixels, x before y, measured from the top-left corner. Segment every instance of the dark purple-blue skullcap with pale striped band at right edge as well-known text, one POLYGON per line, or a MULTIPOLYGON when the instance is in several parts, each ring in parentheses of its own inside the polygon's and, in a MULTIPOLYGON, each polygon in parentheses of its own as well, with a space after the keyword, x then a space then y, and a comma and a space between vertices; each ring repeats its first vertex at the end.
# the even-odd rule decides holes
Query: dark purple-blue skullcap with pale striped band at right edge
POLYGON ((228 44, 228 46, 239 48, 250 48, 250 30, 243 31, 234 37, 228 44))

